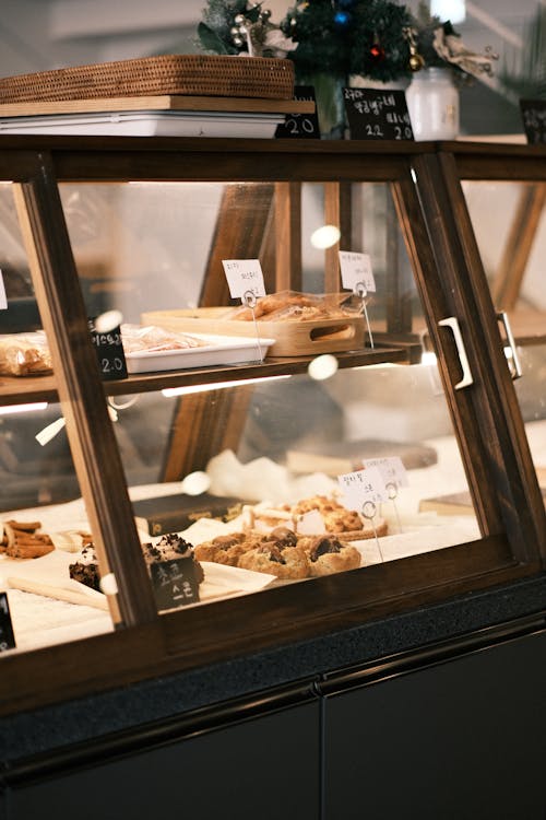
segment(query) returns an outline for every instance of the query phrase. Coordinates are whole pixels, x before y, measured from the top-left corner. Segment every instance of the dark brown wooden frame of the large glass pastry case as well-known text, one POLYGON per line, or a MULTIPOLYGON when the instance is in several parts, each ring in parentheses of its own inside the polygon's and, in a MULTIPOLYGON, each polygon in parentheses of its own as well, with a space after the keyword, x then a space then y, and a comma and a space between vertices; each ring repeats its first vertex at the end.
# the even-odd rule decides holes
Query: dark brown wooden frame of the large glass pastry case
MULTIPOLYGON (((0 379, 0 401, 58 399, 117 629, 69 644, 1 658, 0 714, 202 667, 266 647, 351 629, 370 619, 541 572, 546 539, 542 496, 501 358, 489 291, 472 231, 443 157, 413 142, 177 138, 1 137, 0 179, 15 199, 55 376, 0 379), (102 383, 63 218, 59 184, 189 180, 294 185, 388 183, 427 327, 438 354, 453 426, 482 538, 312 583, 272 588, 157 614, 135 530, 107 395, 300 373, 305 358, 260 365, 169 372, 102 383), (456 191, 455 191, 456 192, 456 191), (456 389, 461 364, 439 325, 456 317, 473 384, 456 389), (107 466, 107 468, 105 468, 107 466)), ((450 160, 450 162, 453 162, 450 160)), ((285 188, 294 197, 295 189, 285 188)), ((341 201, 341 200, 340 200, 341 201)), ((333 206, 332 206, 333 208, 333 206)), ((335 210, 335 209, 333 209, 335 210)), ((341 366, 407 362, 407 348, 383 344, 340 354, 341 366)))

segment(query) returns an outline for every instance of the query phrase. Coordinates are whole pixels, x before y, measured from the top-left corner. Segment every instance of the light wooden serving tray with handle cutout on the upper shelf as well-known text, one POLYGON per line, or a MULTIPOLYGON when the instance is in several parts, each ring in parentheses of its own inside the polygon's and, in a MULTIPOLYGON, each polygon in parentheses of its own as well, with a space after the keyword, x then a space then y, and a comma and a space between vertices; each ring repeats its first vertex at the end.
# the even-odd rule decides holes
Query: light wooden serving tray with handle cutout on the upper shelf
POLYGON ((181 308, 143 313, 143 325, 156 325, 183 333, 215 333, 225 336, 260 336, 274 339, 270 356, 298 356, 361 350, 365 324, 361 316, 342 316, 309 321, 239 321, 222 318, 225 307, 181 308))

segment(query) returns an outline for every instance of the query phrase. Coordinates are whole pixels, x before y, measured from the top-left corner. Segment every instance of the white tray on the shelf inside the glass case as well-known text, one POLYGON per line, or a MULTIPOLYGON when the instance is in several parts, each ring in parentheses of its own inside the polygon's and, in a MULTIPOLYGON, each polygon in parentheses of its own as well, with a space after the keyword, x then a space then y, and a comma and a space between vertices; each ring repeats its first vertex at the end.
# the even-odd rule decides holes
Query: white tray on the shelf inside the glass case
POLYGON ((156 371, 178 371, 190 367, 207 367, 214 364, 241 364, 259 362, 265 356, 274 339, 245 339, 240 336, 209 336, 192 333, 207 342, 206 347, 186 350, 142 351, 126 353, 128 373, 155 373, 156 371))

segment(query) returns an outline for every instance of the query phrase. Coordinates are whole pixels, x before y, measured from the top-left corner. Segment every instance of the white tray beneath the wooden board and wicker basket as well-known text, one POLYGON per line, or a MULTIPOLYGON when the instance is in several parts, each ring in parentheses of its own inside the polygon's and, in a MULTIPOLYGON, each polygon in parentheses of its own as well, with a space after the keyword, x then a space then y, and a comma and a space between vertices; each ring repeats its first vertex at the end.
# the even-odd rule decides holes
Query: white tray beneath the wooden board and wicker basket
POLYGON ((284 114, 253 112, 100 112, 1 117, 0 133, 271 139, 284 114))

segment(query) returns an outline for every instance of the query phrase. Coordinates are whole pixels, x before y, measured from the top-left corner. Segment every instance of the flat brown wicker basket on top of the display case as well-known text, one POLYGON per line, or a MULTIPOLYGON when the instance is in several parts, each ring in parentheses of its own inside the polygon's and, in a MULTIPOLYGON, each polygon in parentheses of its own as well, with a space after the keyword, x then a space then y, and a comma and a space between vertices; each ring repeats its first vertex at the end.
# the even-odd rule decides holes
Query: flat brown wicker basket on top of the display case
POLYGON ((0 80, 0 103, 157 94, 290 99, 294 63, 265 57, 162 55, 0 80))

